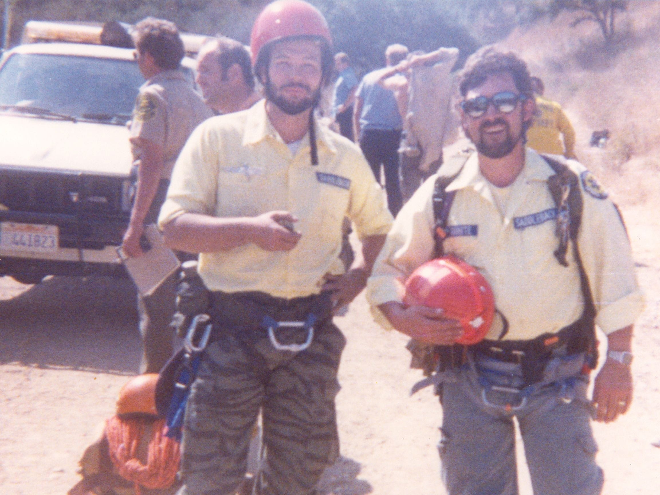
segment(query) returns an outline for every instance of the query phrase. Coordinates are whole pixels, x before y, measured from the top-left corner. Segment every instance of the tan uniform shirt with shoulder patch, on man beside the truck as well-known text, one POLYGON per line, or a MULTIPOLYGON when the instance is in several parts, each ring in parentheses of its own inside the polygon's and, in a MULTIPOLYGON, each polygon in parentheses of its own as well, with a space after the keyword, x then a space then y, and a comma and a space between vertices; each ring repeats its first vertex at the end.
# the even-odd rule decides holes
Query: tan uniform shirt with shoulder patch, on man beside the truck
POLYGON ((137 138, 160 145, 164 152, 163 179, 169 179, 190 133, 213 112, 181 71, 164 71, 140 88, 130 126, 133 162, 141 158, 137 138))

